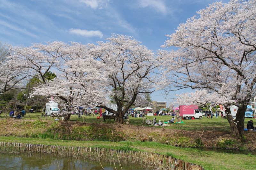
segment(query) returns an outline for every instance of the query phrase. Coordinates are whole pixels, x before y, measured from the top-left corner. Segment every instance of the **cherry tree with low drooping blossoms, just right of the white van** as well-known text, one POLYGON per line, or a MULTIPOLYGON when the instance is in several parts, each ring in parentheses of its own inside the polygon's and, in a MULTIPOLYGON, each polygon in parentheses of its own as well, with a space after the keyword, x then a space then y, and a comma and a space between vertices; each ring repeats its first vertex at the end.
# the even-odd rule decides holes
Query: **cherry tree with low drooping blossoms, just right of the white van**
POLYGON ((105 74, 101 71, 100 61, 90 56, 85 45, 72 42, 64 46, 65 54, 58 58, 58 65, 52 66, 57 78, 45 80, 32 95, 57 97, 65 105, 64 120, 69 120, 71 112, 78 106, 103 104, 107 97, 103 95, 105 74))

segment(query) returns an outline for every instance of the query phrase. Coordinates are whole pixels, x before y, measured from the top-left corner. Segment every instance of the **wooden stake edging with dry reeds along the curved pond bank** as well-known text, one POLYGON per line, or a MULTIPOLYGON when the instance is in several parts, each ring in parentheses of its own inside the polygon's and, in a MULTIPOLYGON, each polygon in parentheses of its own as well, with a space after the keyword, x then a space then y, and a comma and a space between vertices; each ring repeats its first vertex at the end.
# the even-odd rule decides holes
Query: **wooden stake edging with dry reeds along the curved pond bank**
POLYGON ((200 165, 185 162, 161 155, 144 151, 124 151, 108 148, 75 147, 75 146, 55 146, 29 143, 6 143, 0 142, 0 153, 45 153, 62 156, 74 156, 76 158, 88 158, 90 160, 104 160, 122 163, 135 163, 149 169, 196 169, 204 170, 200 165))

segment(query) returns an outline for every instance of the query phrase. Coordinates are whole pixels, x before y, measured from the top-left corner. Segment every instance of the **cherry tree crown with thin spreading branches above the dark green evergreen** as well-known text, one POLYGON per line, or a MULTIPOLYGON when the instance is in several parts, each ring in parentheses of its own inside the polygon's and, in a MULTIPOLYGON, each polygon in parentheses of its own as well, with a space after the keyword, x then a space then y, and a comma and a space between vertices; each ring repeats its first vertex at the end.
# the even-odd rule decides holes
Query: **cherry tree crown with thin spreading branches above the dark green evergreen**
POLYGON ((10 58, 15 61, 13 65, 20 69, 27 68, 32 76, 37 74, 41 81, 46 83, 47 72, 60 65, 61 57, 68 55, 68 47, 68 44, 57 41, 35 43, 30 47, 10 46, 10 58))

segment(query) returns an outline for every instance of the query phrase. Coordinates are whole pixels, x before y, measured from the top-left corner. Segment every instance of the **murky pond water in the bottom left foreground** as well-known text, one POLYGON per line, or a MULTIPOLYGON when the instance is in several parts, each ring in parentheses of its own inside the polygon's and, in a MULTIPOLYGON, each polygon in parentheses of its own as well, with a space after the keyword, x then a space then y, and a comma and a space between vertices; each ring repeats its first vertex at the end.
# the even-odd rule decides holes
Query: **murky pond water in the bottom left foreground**
MULTIPOLYGON (((119 163, 91 161, 91 160, 78 160, 74 157, 57 157, 47 154, 0 154, 0 169, 90 169, 100 170, 102 166, 105 170, 121 169, 119 163), (116 168, 115 168, 116 166, 116 168)), ((122 164, 125 170, 132 169, 145 169, 136 164, 122 164)))

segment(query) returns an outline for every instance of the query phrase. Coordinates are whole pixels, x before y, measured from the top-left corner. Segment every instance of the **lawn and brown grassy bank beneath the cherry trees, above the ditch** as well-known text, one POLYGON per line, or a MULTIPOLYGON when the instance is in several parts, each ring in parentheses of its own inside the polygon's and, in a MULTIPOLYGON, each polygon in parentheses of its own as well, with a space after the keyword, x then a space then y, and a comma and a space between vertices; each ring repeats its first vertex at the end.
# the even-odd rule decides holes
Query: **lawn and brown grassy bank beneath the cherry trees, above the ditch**
MULTIPOLYGON (((50 117, 40 117, 40 113, 29 113, 24 119, 0 118, 0 135, 64 140, 97 141, 153 141, 172 146, 206 147, 235 150, 255 150, 256 133, 246 132, 243 140, 235 140, 229 135, 226 119, 183 120, 186 124, 170 124, 164 128, 144 126, 145 119, 131 118, 129 125, 118 126, 112 121, 103 122, 92 116, 71 120, 54 121, 50 117)), ((147 117, 152 119, 152 117, 147 117)), ((168 116, 157 119, 168 120, 168 116)), ((250 120, 250 119, 248 119, 250 120)), ((246 121, 248 121, 246 119, 246 121)))

